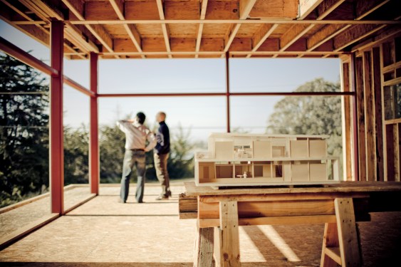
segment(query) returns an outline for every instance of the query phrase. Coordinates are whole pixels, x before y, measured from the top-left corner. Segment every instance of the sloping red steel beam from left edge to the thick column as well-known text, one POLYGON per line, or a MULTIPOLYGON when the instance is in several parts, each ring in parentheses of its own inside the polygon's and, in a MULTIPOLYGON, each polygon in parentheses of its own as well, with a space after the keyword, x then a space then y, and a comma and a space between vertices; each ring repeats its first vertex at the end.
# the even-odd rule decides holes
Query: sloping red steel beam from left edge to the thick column
POLYGON ((58 75, 58 70, 48 66, 46 63, 39 61, 38 58, 26 53, 24 50, 15 46, 13 43, 10 43, 6 39, 0 37, 0 50, 4 51, 4 53, 12 56, 13 58, 18 59, 21 62, 24 62, 26 65, 31 66, 32 68, 36 68, 43 73, 48 75, 58 75))

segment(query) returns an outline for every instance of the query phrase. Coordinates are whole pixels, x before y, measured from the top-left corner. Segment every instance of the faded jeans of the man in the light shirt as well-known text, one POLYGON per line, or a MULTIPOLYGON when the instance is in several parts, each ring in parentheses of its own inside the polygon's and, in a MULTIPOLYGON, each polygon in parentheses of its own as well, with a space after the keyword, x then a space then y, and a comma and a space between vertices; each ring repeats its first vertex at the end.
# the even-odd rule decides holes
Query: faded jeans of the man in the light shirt
POLYGON ((123 162, 123 177, 121 177, 121 200, 127 201, 128 192, 130 191, 130 177, 132 168, 137 169, 137 192, 135 199, 137 202, 142 202, 143 192, 145 189, 145 151, 142 150, 125 150, 124 162, 123 162))

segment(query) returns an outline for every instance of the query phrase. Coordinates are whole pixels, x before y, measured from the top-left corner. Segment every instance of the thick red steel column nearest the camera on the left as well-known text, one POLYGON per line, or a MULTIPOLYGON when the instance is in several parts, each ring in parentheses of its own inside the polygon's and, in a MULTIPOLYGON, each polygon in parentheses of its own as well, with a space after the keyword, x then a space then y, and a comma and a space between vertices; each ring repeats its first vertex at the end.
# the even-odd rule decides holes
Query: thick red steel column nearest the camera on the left
POLYGON ((51 76, 49 174, 51 212, 63 214, 64 209, 64 145, 63 145, 63 21, 51 21, 51 67, 58 75, 51 76))

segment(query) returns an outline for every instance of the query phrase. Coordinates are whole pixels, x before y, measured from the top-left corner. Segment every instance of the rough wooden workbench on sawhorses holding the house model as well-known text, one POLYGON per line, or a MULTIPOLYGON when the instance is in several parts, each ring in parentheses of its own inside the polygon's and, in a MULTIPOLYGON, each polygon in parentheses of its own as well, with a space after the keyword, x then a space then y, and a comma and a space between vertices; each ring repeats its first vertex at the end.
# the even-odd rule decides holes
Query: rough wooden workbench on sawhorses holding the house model
POLYGON ((325 224, 321 266, 360 266, 356 221, 401 211, 400 182, 212 189, 185 183, 180 219, 197 219, 194 266, 241 266, 238 226, 325 224))

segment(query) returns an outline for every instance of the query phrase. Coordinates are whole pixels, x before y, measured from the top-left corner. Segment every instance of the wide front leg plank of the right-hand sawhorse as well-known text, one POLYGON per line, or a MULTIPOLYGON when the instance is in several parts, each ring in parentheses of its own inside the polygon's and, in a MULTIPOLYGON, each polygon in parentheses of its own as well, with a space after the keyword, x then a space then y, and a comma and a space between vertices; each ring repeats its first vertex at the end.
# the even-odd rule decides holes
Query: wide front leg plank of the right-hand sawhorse
POLYGON ((335 199, 338 243, 340 245, 341 266, 361 266, 360 246, 355 224, 353 199, 335 199))

